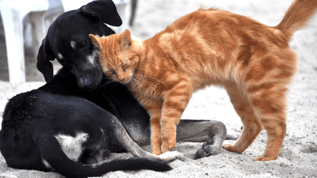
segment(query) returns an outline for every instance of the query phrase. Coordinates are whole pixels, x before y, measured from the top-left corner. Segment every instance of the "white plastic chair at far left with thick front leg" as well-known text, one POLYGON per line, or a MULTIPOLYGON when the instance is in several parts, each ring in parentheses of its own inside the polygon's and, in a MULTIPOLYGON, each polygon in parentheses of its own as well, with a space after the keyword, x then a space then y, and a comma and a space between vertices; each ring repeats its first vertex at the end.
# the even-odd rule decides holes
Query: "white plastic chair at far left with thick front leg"
MULTIPOLYGON (((25 82, 24 48, 23 48, 23 20, 29 12, 42 12, 49 8, 47 0, 2 0, 0 12, 3 20, 4 35, 7 47, 10 83, 25 82)), ((42 19, 35 24, 36 29, 42 29, 42 19)), ((42 30, 39 32, 42 34, 42 30)), ((43 38, 43 37, 42 37, 43 38)), ((34 39, 34 38, 33 38, 34 39)), ((36 40, 36 39, 35 39, 36 40)))

